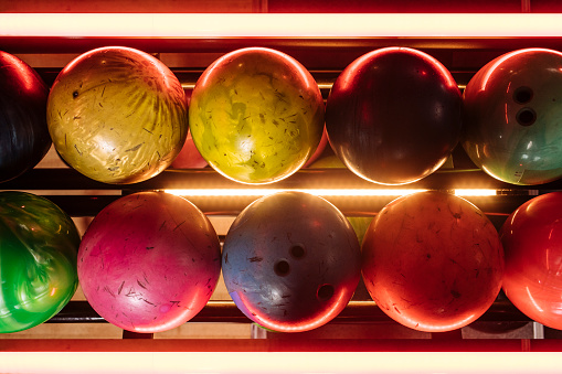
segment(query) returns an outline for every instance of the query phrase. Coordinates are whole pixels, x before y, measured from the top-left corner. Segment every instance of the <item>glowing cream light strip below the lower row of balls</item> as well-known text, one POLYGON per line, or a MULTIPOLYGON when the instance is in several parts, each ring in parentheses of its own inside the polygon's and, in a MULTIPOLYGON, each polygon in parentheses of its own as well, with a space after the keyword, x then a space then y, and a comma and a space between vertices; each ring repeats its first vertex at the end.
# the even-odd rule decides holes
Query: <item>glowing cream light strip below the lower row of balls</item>
MULTIPOLYGON (((454 343, 453 343, 454 345, 454 343)), ((558 373, 556 352, 0 352, 8 373, 558 373)))

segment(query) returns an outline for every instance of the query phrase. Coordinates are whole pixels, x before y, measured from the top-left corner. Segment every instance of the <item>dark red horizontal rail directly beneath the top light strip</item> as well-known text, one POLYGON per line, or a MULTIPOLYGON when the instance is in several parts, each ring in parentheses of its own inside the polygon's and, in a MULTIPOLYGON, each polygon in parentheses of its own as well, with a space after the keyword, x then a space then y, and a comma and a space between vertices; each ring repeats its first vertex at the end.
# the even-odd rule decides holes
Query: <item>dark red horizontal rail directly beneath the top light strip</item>
MULTIPOLYGON (((420 50, 498 50, 523 47, 560 49, 562 38, 57 38, 57 36, 0 36, 0 46, 9 53, 83 53, 107 45, 123 45, 149 53, 225 53, 232 50, 264 46, 280 50, 304 62, 315 61, 310 52, 320 54, 338 50, 341 57, 367 53, 385 46, 407 46, 420 50), (307 56, 308 55, 308 56, 307 56)), ((332 62, 325 62, 335 66, 332 62)), ((307 65, 307 64, 305 64, 307 65)))

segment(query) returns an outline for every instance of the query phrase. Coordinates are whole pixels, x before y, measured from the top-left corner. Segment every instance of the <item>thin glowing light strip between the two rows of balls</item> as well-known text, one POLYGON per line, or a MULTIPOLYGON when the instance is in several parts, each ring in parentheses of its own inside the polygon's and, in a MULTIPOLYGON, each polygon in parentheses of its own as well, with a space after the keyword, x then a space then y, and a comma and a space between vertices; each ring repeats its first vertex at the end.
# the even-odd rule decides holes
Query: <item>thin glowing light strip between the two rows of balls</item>
MULTIPOLYGON (((317 196, 403 196, 427 190, 422 189, 189 189, 189 190, 165 190, 180 196, 218 197, 218 196, 264 196, 283 191, 300 191, 317 196)), ((496 190, 465 189, 455 190, 456 195, 463 196, 494 196, 496 190)))

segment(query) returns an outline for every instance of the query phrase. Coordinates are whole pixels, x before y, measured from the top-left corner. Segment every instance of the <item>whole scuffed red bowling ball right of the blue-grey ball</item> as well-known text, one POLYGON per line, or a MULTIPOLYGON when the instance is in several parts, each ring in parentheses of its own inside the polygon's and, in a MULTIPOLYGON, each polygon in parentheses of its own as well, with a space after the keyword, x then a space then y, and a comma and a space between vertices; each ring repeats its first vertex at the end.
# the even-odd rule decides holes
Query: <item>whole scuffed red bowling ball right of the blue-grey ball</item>
POLYGON ((414 330, 463 328, 488 310, 501 288, 498 232, 478 207, 444 192, 388 204, 369 226, 362 250, 372 299, 414 330))

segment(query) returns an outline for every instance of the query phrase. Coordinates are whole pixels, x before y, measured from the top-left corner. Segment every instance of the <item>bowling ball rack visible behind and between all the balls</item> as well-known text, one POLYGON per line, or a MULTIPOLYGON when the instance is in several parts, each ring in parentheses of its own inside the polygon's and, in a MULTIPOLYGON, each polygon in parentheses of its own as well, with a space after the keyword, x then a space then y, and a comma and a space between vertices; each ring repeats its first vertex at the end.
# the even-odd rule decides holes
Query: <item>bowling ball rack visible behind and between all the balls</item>
MULTIPOLYGON (((66 38, 15 38, 0 36, 0 49, 14 54, 40 56, 42 61, 53 58, 62 61, 62 55, 76 55, 79 51, 86 51, 105 45, 127 45, 150 52, 162 61, 173 62, 171 67, 189 93, 204 67, 216 56, 238 47, 261 46, 278 49, 300 61, 309 67, 312 76, 320 85, 326 99, 331 83, 339 72, 357 56, 372 51, 373 49, 390 45, 402 45, 421 49, 444 63, 450 68, 459 87, 463 88, 474 73, 494 57, 520 47, 541 46, 562 49, 562 39, 505 39, 505 38, 372 38, 372 39, 298 39, 298 38, 262 38, 250 39, 118 39, 118 38, 93 38, 93 39, 66 39, 66 38), (194 66, 188 63, 193 56, 194 66)), ((64 58, 63 58, 64 60, 64 58)), ((41 64, 40 64, 41 65, 41 64)), ((47 84, 52 84, 60 67, 38 67, 38 72, 47 84)), ((326 154, 330 152, 327 149, 326 154)), ((562 180, 542 184, 539 186, 521 186, 500 182, 487 175, 471 163, 460 146, 453 152, 453 168, 442 169, 427 178, 411 183, 406 186, 390 186, 390 189, 430 189, 453 191, 460 188, 494 189, 498 195, 494 197, 467 196, 481 211, 484 211, 496 227, 500 227, 507 216, 519 205, 533 196, 550 191, 562 190, 562 180)), ((61 206, 73 217, 92 217, 109 203, 123 195, 138 191, 162 191, 171 189, 240 189, 240 183, 230 181, 211 169, 169 169, 161 174, 131 185, 113 185, 93 181, 70 168, 35 168, 17 179, 0 184, 1 190, 30 191, 43 195, 61 206), (84 191, 86 193, 84 193, 84 191), (114 191, 116 193, 96 193, 114 191)), ((286 180, 265 186, 244 186, 247 189, 303 189, 303 188, 330 188, 330 189, 388 189, 389 186, 375 185, 354 175, 347 169, 303 169, 286 180)), ((201 211, 208 215, 235 216, 255 196, 192 196, 189 197, 201 211)), ((346 215, 374 216, 393 196, 327 196, 346 215)), ((224 237, 221 238, 222 241, 224 237)), ((479 322, 500 323, 529 323, 532 322, 519 312, 505 297, 501 296, 492 307, 478 320, 479 322)), ((192 322, 226 322, 250 323, 250 320, 236 308, 232 301, 210 301, 208 306, 194 317, 192 322)), ((71 301, 63 310, 46 323, 107 323, 99 317, 87 301, 71 301)), ((395 323, 386 317, 368 295, 363 292, 356 297, 348 307, 330 323, 344 324, 381 324, 395 323)), ((555 338, 562 338, 553 333, 555 338)), ((124 331, 123 338, 142 339, 152 338, 151 334, 138 334, 124 331)), ((318 340, 290 339, 289 344, 282 342, 247 343, 237 350, 254 351, 450 351, 456 349, 475 351, 529 351, 530 343, 520 339, 507 339, 501 343, 491 340, 470 340, 457 345, 450 345, 447 340, 460 341, 460 331, 452 333, 433 333, 433 345, 413 342, 409 339, 378 340, 373 336, 362 343, 353 340, 340 340, 339 342, 318 340), (445 343, 443 343, 445 341, 445 343), (363 345, 359 345, 363 344, 363 345), (424 345, 425 344, 425 345, 424 345)), ((562 341, 551 340, 548 342, 533 342, 536 350, 562 350, 562 341)), ((119 351, 124 345, 113 343, 105 345, 107 350, 119 351), (113 344, 113 345, 112 345, 113 344)), ((64 343, 61 343, 64 344, 64 343)), ((76 350, 81 350, 77 343, 76 350)), ((199 345, 195 342, 184 342, 176 350, 202 351, 205 349, 233 350, 233 342, 229 340, 218 341, 199 345), (206 345, 205 345, 206 344, 206 345)), ((0 339, 0 350, 29 351, 47 350, 49 342, 35 341, 35 348, 25 346, 23 340, 14 340, 11 345, 7 340, 0 339)), ((62 345, 59 345, 61 348, 62 345)), ((64 350, 64 348, 61 348, 64 350)), ((130 346, 129 346, 130 349, 130 346)), ((166 350, 170 343, 161 345, 138 345, 138 350, 166 350), (140 348, 139 348, 140 346, 140 348)), ((72 350, 72 349, 71 349, 72 350)), ((93 345, 83 345, 82 350, 96 350, 93 345)), ((171 349, 174 350, 174 349, 171 349)))

